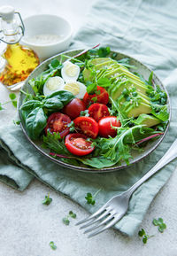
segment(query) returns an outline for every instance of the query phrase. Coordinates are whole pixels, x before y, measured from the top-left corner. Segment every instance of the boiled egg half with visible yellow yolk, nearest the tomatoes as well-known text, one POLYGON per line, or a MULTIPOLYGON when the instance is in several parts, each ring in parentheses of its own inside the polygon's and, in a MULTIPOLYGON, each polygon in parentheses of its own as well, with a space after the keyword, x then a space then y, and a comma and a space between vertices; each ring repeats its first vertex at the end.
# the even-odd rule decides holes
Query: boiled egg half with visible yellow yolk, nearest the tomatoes
POLYGON ((67 81, 63 89, 70 91, 77 98, 83 98, 87 92, 86 86, 80 81, 67 81))

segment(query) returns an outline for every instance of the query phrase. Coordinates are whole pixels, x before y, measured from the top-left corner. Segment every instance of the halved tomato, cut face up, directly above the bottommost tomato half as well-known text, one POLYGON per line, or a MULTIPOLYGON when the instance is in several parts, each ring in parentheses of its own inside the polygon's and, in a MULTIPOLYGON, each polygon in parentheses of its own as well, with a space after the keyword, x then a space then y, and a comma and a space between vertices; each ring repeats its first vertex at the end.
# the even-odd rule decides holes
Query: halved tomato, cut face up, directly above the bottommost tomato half
POLYGON ((84 134, 85 136, 96 138, 98 134, 98 124, 96 120, 87 116, 80 116, 73 120, 76 130, 84 134))

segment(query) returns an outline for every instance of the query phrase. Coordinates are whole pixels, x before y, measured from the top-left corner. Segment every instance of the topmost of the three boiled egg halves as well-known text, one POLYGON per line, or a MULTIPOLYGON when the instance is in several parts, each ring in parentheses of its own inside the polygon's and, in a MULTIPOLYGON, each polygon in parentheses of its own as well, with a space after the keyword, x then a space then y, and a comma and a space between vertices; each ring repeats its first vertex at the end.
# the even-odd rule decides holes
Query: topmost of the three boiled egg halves
POLYGON ((61 75, 65 82, 76 81, 80 74, 80 67, 67 60, 61 69, 61 75))

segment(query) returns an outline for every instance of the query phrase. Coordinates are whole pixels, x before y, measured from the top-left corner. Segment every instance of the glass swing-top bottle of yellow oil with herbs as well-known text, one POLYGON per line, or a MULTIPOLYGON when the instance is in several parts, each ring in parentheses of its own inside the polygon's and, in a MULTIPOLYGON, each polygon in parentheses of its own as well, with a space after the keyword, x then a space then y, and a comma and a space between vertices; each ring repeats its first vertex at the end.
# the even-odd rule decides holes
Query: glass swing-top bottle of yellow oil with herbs
POLYGON ((0 22, 0 82, 7 89, 19 89, 39 65, 39 58, 19 43, 25 31, 19 12, 12 6, 0 7, 0 22))

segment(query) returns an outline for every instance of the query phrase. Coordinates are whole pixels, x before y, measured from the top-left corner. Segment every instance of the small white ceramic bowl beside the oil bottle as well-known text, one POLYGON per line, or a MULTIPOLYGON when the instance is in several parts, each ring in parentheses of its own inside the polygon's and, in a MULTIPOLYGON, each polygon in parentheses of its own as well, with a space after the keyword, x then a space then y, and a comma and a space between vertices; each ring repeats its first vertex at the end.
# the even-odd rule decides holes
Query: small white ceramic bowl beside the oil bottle
POLYGON ((72 38, 72 28, 64 18, 40 14, 30 16, 23 21, 25 35, 21 43, 35 50, 41 61, 68 48, 72 38))

